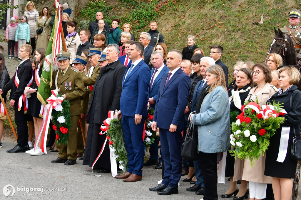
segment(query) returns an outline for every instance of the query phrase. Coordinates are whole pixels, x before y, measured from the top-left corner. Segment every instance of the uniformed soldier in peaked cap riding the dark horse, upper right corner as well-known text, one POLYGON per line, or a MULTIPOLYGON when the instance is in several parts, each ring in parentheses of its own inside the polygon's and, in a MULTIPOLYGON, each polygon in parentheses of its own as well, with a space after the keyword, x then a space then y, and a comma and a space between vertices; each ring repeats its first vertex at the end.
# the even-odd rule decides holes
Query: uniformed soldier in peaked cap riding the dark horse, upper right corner
POLYGON ((290 25, 281 27, 280 30, 290 36, 297 54, 300 53, 301 50, 301 27, 299 26, 301 12, 295 8, 288 14, 288 22, 290 25))

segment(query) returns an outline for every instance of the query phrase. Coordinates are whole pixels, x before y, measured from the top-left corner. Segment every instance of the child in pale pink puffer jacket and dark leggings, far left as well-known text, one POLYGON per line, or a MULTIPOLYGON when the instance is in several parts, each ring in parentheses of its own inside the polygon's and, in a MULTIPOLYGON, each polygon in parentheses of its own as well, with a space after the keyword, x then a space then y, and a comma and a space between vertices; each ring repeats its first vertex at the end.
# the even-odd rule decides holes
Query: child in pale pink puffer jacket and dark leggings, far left
POLYGON ((6 27, 5 30, 5 39, 8 42, 8 58, 15 59, 14 51, 15 51, 15 35, 17 30, 16 19, 11 17, 11 23, 6 27))

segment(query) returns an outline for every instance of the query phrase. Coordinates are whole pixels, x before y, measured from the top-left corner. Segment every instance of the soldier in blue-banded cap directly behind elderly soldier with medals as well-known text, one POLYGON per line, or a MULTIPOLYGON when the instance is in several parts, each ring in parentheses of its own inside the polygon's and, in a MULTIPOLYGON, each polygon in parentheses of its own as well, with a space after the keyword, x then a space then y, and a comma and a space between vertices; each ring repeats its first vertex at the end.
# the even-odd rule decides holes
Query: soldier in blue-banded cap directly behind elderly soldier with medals
MULTIPOLYGON (((72 62, 73 68, 76 68, 81 74, 82 77, 88 77, 88 74, 85 74, 85 67, 87 65, 87 59, 81 57, 81 56, 76 56, 74 61, 72 62)), ((85 127, 86 124, 86 114, 88 110, 88 104, 89 104, 89 93, 88 93, 88 86, 84 87, 84 94, 81 96, 81 106, 82 106, 82 111, 81 114, 79 115, 79 120, 82 120, 82 125, 85 127)), ((83 141, 83 136, 82 136, 82 129, 78 125, 77 127, 77 151, 76 151, 76 157, 82 156, 84 153, 84 141, 83 141)), ((85 135, 86 138, 86 135, 85 135)))

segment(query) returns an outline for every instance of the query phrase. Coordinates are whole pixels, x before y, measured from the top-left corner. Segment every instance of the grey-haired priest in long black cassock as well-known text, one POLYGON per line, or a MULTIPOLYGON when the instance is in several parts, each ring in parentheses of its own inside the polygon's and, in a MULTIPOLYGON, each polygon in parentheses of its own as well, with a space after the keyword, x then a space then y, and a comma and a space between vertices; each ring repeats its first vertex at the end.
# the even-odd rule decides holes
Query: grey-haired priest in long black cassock
MULTIPOLYGON (((106 58, 108 64, 101 68, 92 91, 89 102, 87 123, 88 133, 85 147, 83 165, 93 165, 101 151, 107 135, 100 135, 100 127, 108 118, 109 111, 119 110, 120 95, 122 90, 122 79, 126 67, 118 60, 120 49, 117 44, 109 44, 106 58)), ((99 173, 111 171, 109 144, 104 145, 104 151, 95 163, 94 167, 99 173)))

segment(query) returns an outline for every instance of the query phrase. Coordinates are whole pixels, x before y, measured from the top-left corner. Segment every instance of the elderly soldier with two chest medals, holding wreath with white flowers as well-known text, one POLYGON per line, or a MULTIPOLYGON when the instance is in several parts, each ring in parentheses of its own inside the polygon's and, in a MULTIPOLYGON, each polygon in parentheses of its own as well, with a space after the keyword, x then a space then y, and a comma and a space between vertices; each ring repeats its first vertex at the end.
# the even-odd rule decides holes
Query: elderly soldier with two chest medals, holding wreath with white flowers
POLYGON ((64 162, 65 165, 74 165, 76 164, 77 123, 81 113, 80 98, 84 94, 84 83, 82 74, 69 65, 69 52, 60 51, 56 57, 59 69, 52 74, 54 81, 51 89, 57 89, 58 93, 69 100, 72 127, 68 130, 69 139, 67 146, 64 144, 57 145, 58 158, 52 160, 51 163, 64 162))

